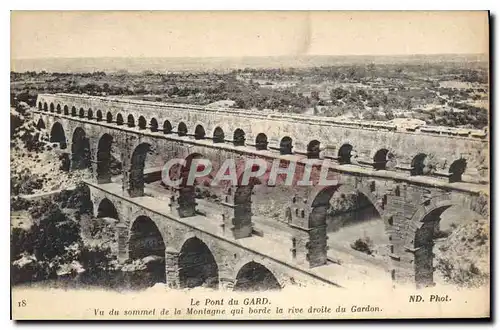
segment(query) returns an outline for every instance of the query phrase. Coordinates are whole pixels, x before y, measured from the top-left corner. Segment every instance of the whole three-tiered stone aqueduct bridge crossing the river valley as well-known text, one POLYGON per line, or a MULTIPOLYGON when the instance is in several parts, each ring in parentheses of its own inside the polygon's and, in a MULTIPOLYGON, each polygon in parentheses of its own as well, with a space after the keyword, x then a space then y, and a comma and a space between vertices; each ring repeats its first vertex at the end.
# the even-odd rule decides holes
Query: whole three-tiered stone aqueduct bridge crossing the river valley
POLYGON ((69 94, 41 94, 33 111, 39 127, 50 131, 50 140, 71 153, 72 168, 92 168, 94 179, 87 184, 94 210, 117 219, 121 259, 140 256, 140 238, 159 233, 161 244, 155 249, 166 257, 166 281, 172 287, 189 285, 195 266, 201 267, 205 282, 222 287, 244 286, 245 278, 260 268, 268 274, 260 278, 273 278, 276 285, 343 286, 349 270, 328 262, 326 235, 326 211, 340 186, 363 194, 379 212, 390 242, 388 276, 396 282, 433 283, 433 240, 446 209, 457 206, 488 217, 489 185, 480 183, 488 170, 482 132, 444 135, 425 132, 425 127, 400 132, 380 123, 358 127, 69 94), (113 150, 120 153, 121 185, 111 182, 113 150), (290 196, 289 236, 278 233, 281 239, 272 241, 266 235, 272 227, 253 227, 253 185, 224 190, 218 219, 196 212, 193 187, 172 189, 165 202, 145 195, 146 163, 155 167, 199 155, 218 163, 259 157, 300 164, 307 158, 331 158, 335 163, 329 171, 339 182, 290 196))

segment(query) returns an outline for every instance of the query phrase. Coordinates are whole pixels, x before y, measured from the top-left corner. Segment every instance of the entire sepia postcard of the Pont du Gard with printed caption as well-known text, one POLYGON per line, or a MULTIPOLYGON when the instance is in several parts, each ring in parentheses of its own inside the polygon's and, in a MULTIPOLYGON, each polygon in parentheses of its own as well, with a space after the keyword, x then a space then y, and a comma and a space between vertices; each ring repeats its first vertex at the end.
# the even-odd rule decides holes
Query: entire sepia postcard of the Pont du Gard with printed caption
POLYGON ((490 317, 488 11, 12 11, 14 320, 490 317))

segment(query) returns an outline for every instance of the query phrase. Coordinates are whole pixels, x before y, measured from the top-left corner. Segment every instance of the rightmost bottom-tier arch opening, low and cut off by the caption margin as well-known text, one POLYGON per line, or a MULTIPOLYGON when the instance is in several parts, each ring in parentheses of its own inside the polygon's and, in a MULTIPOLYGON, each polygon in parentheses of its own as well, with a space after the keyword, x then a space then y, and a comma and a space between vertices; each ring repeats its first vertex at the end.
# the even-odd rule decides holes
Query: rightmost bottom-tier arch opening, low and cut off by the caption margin
POLYGON ((262 263, 249 261, 236 267, 234 291, 275 291, 281 290, 282 284, 273 272, 262 263))

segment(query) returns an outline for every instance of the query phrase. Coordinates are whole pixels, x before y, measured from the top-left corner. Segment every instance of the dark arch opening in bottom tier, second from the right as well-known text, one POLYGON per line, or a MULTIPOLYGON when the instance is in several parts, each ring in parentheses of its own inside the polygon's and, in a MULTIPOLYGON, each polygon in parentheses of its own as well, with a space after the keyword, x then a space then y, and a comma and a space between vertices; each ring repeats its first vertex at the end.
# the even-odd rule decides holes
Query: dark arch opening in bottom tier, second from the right
POLYGON ((210 248, 198 237, 188 238, 179 250, 179 284, 181 288, 219 286, 219 267, 210 248))

